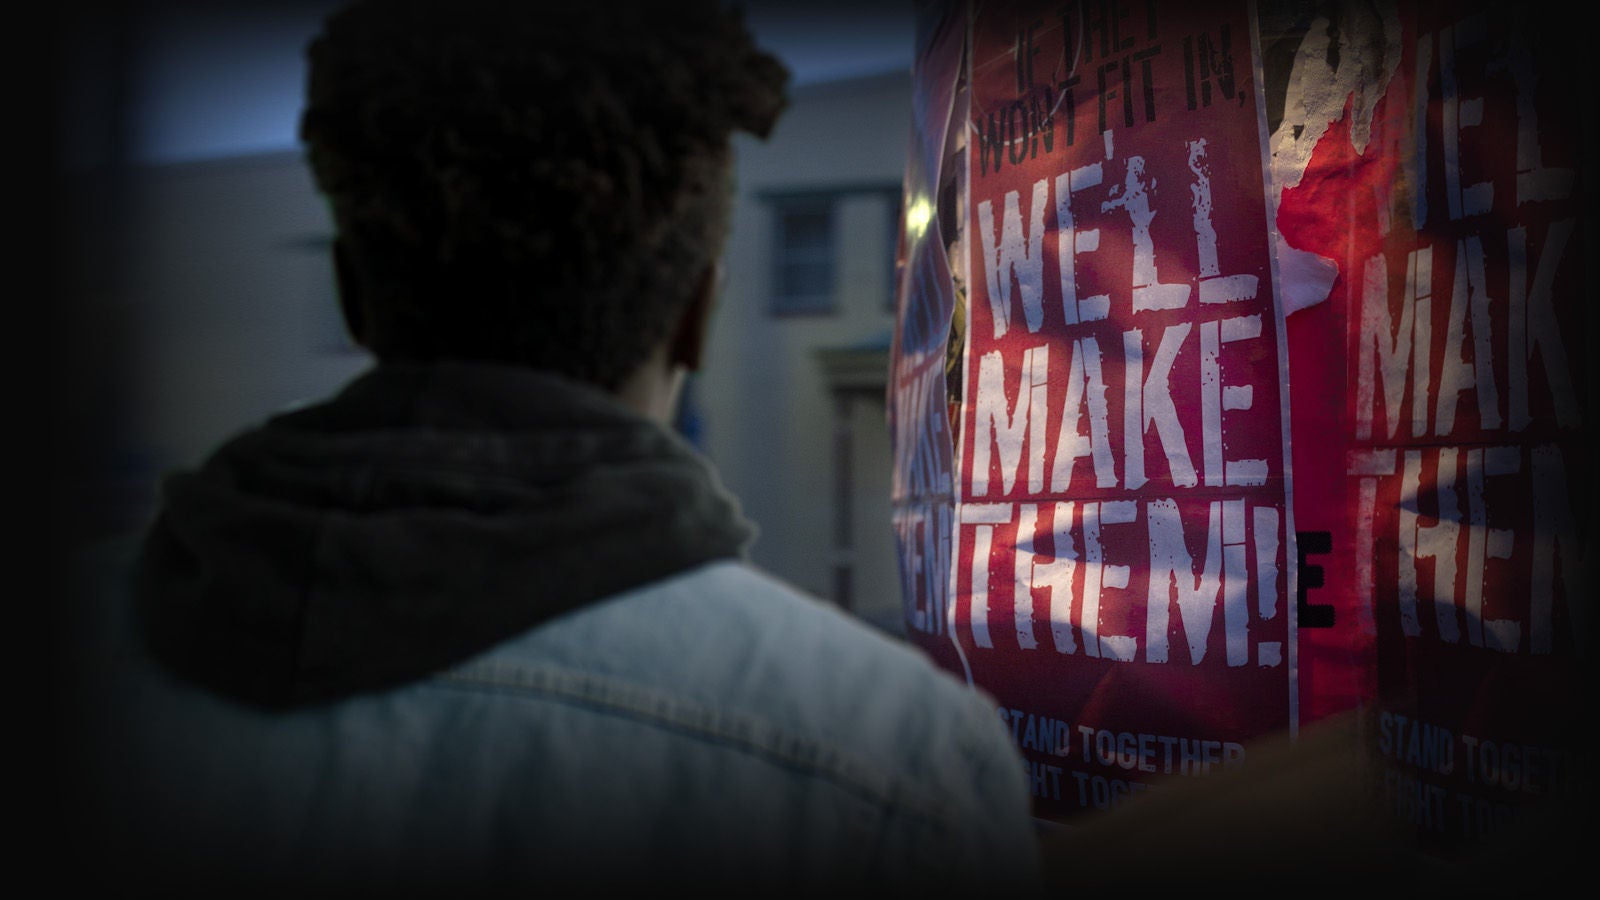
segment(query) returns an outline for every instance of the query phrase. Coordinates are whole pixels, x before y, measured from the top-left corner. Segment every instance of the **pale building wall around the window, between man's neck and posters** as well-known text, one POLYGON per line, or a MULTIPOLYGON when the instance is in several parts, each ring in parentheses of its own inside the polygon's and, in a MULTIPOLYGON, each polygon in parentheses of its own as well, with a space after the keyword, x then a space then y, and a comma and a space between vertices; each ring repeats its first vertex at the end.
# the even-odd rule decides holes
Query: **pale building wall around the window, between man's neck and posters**
MULTIPOLYGON (((894 247, 882 199, 843 203, 837 219, 837 312, 768 314, 766 191, 898 186, 910 141, 910 74, 802 86, 773 136, 738 144, 739 202, 728 280, 701 384, 707 452, 762 528, 755 559, 827 596, 832 583, 832 402, 814 351, 888 340, 885 291, 894 247)), ((885 373, 886 375, 886 373, 885 373)), ((890 527, 890 445, 882 399, 854 416, 859 612, 899 617, 890 527)))

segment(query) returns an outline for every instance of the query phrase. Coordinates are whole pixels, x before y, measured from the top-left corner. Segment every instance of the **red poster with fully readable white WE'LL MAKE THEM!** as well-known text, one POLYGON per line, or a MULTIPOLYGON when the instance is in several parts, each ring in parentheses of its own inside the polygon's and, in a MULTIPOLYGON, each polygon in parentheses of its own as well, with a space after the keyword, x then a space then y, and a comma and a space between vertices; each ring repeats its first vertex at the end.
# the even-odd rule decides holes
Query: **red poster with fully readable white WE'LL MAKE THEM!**
POLYGON ((949 581, 907 581, 907 625, 1069 817, 1298 721, 1259 54, 1245 3, 990 2, 966 29, 950 496, 939 541, 901 528, 949 581))

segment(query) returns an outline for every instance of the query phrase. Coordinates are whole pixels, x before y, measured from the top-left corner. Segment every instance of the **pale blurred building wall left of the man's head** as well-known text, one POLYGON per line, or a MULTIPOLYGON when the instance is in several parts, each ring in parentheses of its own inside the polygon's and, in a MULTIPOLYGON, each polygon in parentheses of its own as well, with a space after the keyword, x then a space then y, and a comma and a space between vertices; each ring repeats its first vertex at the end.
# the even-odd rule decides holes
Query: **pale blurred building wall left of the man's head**
POLYGON ((154 167, 133 203, 130 439, 152 460, 198 463, 368 365, 344 336, 330 216, 299 154, 154 167))

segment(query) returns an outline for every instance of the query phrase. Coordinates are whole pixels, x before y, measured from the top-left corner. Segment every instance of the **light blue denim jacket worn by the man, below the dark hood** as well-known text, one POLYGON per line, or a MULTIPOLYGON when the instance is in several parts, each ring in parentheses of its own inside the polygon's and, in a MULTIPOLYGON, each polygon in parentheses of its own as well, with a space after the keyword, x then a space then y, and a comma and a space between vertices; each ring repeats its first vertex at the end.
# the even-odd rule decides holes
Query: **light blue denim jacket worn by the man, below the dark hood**
MULTIPOLYGON (((115 578, 122 557, 107 560, 115 578)), ((120 581, 99 586, 117 609, 120 581)), ((739 562, 398 690, 274 714, 86 644, 96 801, 133 855, 336 886, 987 886, 1038 857, 994 705, 739 562)), ((213 873, 214 874, 214 873, 213 873)))

